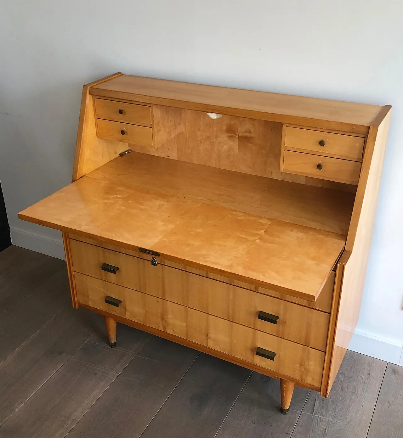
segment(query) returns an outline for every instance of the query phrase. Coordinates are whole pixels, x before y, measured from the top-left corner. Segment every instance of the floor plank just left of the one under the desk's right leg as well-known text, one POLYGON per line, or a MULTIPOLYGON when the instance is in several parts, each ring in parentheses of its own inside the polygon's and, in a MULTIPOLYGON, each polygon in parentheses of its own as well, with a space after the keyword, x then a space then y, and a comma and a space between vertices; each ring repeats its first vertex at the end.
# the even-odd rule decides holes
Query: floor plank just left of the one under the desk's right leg
POLYGON ((201 353, 141 438, 214 437, 250 375, 201 353))

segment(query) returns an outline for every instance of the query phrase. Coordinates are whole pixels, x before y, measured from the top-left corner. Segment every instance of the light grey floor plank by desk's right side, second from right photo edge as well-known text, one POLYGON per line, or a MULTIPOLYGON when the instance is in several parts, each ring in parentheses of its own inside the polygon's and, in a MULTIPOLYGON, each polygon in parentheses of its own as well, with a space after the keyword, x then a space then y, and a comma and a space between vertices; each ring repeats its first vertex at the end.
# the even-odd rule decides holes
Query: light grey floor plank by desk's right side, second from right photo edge
POLYGON ((347 350, 327 399, 311 391, 292 438, 366 438, 386 362, 347 350))

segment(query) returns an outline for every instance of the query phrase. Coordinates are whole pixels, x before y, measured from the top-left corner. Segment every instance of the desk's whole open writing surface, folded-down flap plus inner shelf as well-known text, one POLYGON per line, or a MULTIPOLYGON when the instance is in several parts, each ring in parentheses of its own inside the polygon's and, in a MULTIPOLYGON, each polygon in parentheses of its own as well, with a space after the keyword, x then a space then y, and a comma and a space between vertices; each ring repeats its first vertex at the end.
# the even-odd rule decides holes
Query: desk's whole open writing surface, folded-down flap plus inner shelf
POLYGON ((353 193, 132 152, 19 217, 315 301, 353 203, 353 193))

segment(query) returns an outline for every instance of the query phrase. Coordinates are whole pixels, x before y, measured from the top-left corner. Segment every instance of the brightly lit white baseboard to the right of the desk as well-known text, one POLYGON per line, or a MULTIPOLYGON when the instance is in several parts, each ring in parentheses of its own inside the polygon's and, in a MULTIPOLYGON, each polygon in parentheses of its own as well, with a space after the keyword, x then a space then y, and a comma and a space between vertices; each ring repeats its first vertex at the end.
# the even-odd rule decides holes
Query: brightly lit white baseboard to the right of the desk
POLYGON ((403 344, 355 330, 349 350, 403 366, 403 344))

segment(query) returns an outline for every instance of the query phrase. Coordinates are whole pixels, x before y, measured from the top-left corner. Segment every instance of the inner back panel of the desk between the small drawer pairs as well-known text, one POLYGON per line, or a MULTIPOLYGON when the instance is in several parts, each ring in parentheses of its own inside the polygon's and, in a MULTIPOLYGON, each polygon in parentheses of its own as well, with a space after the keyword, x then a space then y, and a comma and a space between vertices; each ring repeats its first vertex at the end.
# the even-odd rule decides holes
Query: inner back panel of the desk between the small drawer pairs
POLYGON ((153 105, 152 111, 154 145, 130 144, 134 151, 276 180, 343 191, 356 189, 280 171, 281 123, 226 115, 212 120, 202 111, 160 105, 153 105))

